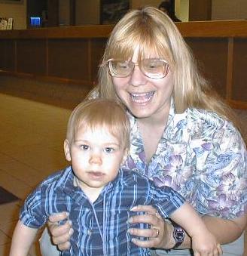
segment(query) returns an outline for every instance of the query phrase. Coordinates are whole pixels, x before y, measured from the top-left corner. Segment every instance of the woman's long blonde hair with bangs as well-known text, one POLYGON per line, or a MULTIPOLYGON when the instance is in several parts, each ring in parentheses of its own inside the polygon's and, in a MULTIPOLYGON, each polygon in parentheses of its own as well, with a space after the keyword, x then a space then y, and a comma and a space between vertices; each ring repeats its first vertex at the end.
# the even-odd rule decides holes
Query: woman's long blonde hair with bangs
POLYGON ((233 111, 201 76, 194 55, 175 24, 153 7, 129 11, 114 26, 99 66, 99 97, 119 100, 105 62, 110 58, 129 60, 137 48, 139 59, 157 54, 157 57, 168 61, 173 74, 172 96, 176 113, 183 113, 188 107, 208 109, 239 127, 233 111))

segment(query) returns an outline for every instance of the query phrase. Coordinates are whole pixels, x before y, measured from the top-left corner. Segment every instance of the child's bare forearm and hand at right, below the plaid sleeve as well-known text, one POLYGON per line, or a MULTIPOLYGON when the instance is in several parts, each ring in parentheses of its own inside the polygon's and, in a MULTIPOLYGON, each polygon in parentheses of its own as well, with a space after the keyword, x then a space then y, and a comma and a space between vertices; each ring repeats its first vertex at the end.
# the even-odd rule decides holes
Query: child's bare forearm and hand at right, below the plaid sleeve
POLYGON ((188 202, 181 205, 170 217, 172 221, 183 227, 191 236, 194 256, 209 254, 218 256, 222 254, 221 245, 217 242, 215 236, 209 232, 197 212, 188 202))

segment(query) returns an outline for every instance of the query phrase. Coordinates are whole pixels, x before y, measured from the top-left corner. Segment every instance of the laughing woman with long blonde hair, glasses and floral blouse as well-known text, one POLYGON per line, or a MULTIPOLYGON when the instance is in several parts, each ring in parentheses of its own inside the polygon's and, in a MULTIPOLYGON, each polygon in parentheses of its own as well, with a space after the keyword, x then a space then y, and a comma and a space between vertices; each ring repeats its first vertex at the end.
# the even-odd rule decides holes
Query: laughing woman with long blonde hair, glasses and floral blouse
MULTIPOLYGON (((170 186, 201 214, 223 245, 224 255, 242 255, 246 224, 245 143, 233 115, 200 76, 178 29, 157 8, 127 13, 114 27, 102 65, 99 86, 90 97, 114 98, 130 113, 132 125, 127 168, 170 186)), ((149 230, 128 230, 136 245, 157 248, 153 254, 191 255, 191 239, 181 227, 164 222, 151 206, 129 221, 149 230), (170 249, 172 250, 164 250, 170 249)), ((53 242, 68 248, 66 214, 50 217, 53 242)), ((47 246, 47 245, 46 245, 47 246)))

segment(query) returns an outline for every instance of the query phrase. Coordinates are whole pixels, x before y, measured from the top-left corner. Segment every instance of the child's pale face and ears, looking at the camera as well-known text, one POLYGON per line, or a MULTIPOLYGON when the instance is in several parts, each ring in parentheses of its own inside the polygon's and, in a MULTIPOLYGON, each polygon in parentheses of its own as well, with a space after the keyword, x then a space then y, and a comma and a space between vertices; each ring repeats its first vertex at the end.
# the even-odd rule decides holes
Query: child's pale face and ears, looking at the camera
POLYGON ((118 169, 126 160, 127 150, 106 130, 79 128, 75 140, 65 140, 65 154, 72 161, 78 184, 84 193, 100 193, 108 182, 117 177, 118 169))

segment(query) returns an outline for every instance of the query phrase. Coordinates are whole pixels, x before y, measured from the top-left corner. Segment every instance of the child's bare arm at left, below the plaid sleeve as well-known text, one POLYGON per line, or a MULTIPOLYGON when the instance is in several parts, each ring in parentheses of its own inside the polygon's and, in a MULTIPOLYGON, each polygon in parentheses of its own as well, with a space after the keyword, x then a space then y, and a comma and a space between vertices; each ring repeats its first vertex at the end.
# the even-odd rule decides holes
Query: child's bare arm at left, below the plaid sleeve
POLYGON ((14 229, 10 256, 26 256, 29 253, 29 249, 35 239, 37 232, 38 229, 26 227, 19 220, 17 222, 17 226, 14 229))

